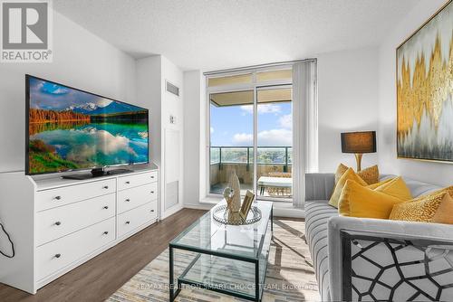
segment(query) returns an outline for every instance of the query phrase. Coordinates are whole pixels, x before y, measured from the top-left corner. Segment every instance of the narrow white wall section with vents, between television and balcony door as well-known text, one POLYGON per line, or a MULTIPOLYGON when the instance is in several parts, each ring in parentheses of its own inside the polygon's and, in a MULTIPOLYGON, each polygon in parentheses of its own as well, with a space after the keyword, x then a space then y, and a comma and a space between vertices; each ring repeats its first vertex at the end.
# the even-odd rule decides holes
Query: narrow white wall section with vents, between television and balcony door
POLYGON ((183 91, 182 71, 164 56, 156 55, 137 61, 138 99, 140 105, 149 108, 150 112, 150 158, 160 167, 161 218, 178 211, 184 202, 183 91), (166 80, 178 86, 179 97, 167 92, 166 80), (170 115, 176 118, 175 124, 169 122, 170 115), (178 147, 166 147, 169 130, 178 132, 178 147), (166 210, 166 198, 171 193, 167 190, 167 184, 174 181, 178 181, 179 203, 166 210))

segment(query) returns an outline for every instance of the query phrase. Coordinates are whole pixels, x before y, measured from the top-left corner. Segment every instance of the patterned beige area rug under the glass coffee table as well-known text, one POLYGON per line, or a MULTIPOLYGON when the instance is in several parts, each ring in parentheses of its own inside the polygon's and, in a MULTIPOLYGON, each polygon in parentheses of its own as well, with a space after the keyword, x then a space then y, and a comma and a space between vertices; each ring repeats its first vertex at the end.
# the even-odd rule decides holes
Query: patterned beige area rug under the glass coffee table
MULTIPOLYGON (((183 255, 175 259, 184 268, 192 259, 183 255)), ((228 264, 235 267, 235 264, 228 264)), ((235 278, 235 268, 217 271, 235 278)), ((177 269, 175 269, 176 271, 177 269)), ((225 278, 225 276, 221 276, 225 278)), ((252 278, 253 279, 253 278, 252 278)), ((304 238, 304 222, 274 220, 274 238, 265 277, 263 301, 319 301, 310 252, 304 238)), ((162 252, 136 276, 114 293, 110 302, 169 301, 169 250, 162 252)), ((183 288, 176 301, 246 301, 203 288, 183 288)))

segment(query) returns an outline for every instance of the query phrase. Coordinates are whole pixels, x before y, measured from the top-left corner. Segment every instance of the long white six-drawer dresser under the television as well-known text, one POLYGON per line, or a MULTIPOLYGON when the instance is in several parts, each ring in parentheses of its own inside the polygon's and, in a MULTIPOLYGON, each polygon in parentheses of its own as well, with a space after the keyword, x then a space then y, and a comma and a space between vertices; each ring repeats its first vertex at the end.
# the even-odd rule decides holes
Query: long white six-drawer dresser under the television
POLYGON ((146 165, 83 181, 0 175, 0 220, 16 251, 14 259, 0 257, 0 282, 35 293, 157 222, 159 170, 146 165))

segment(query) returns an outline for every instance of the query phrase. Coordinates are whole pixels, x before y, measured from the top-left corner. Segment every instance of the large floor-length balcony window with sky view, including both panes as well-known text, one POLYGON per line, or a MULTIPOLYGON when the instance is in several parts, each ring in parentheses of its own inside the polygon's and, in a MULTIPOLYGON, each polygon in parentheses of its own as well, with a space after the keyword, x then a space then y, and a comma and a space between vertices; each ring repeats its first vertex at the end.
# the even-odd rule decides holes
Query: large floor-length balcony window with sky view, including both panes
POLYGON ((223 193, 235 172, 242 194, 250 190, 259 199, 291 201, 291 76, 284 66, 207 77, 208 193, 223 193))

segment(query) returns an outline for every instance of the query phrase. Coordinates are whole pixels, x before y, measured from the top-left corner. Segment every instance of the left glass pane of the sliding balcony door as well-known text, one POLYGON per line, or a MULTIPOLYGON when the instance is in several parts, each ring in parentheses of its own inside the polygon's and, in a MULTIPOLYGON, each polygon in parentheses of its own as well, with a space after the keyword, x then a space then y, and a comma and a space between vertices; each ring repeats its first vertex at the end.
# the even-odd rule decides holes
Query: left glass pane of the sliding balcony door
POLYGON ((209 95, 209 193, 223 193, 235 172, 241 193, 253 191, 254 90, 209 95))

